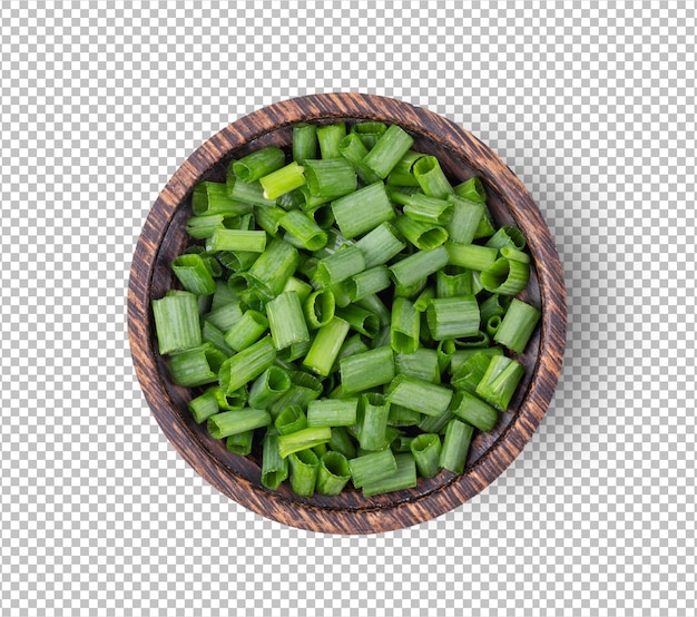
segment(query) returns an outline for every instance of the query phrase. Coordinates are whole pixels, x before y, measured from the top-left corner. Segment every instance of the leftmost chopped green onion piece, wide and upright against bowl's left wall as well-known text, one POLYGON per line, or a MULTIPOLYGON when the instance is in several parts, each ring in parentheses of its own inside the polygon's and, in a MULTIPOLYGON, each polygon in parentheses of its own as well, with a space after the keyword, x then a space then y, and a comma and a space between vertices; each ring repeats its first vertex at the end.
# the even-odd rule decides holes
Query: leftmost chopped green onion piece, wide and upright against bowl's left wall
POLYGON ((198 303, 193 293, 169 291, 160 300, 154 300, 153 316, 160 354, 200 345, 198 303))

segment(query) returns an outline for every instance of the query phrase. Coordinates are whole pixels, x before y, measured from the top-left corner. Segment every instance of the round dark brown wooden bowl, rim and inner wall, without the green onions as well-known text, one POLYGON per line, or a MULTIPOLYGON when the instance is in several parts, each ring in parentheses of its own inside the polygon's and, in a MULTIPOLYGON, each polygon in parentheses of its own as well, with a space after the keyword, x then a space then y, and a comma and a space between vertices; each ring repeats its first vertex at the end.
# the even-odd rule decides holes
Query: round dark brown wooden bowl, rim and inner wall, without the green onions
POLYGON ((530 194, 498 156, 467 130, 425 109, 395 99, 360 94, 313 95, 255 111, 220 130, 174 174, 155 202, 132 259, 128 290, 128 332, 136 373, 163 431, 184 459, 216 489, 276 521, 330 533, 373 533, 438 517, 475 496, 518 456, 542 420, 561 370, 566 341, 566 291, 559 256, 530 194), (438 156, 453 183, 472 175, 484 180, 499 225, 518 225, 528 238, 532 274, 521 296, 542 307, 542 319, 524 354, 526 376, 509 411, 491 433, 473 440, 463 474, 442 471, 419 479, 414 489, 363 498, 296 497, 287 482, 277 491, 259 481, 259 459, 225 449, 197 425, 187 410, 190 391, 174 385, 157 352, 150 301, 174 286, 170 261, 189 243, 185 232, 190 195, 203 179, 224 180, 230 158, 262 146, 291 144, 301 121, 382 120, 410 131, 414 149, 438 156))

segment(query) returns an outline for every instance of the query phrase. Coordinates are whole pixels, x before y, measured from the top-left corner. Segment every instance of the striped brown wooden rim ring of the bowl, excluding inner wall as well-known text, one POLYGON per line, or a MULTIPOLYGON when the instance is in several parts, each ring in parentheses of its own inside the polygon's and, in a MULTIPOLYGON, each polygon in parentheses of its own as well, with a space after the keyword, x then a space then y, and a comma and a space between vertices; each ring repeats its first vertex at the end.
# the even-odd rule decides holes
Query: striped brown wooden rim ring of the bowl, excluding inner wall
POLYGON ((567 297, 559 255, 531 195, 513 172, 487 146, 451 120, 408 102, 356 92, 310 95, 284 100, 233 123, 198 148, 173 175, 145 222, 131 262, 128 288, 128 334, 136 374, 167 439, 210 484, 251 510, 312 531, 374 533, 409 527, 438 517, 469 500, 498 478, 530 440, 553 395, 566 344, 567 297), (151 345, 150 283, 159 245, 177 206, 219 159, 246 141, 298 121, 352 117, 400 124, 462 155, 507 204, 526 232, 537 257, 542 323, 540 353, 530 388, 514 420, 494 445, 462 476, 426 493, 390 507, 324 509, 291 501, 259 488, 216 461, 173 412, 151 345), (445 138, 446 136, 446 138, 445 138))

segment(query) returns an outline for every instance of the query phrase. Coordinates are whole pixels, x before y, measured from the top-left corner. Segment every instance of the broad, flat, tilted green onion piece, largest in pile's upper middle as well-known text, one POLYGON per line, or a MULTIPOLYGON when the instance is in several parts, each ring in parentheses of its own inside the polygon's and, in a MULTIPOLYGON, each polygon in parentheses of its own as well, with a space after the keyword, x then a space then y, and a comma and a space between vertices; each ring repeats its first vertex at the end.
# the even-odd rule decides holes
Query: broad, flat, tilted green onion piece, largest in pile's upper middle
POLYGON ((336 225, 346 238, 353 238, 394 218, 392 203, 381 182, 369 184, 351 195, 332 202, 336 225))

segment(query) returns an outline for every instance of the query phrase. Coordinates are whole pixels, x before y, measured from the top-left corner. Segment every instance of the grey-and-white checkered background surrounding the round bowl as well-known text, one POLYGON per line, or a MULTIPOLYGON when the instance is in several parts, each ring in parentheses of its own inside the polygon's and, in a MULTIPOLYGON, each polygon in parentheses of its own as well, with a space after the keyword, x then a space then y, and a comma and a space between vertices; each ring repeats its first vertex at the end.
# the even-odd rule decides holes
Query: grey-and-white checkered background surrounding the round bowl
POLYGON ((689 3, 115 4, 0 9, 0 613, 695 615, 689 3), (186 157, 254 109, 338 90, 498 151, 570 307, 521 457, 465 506, 370 537, 291 529, 206 484, 153 420, 125 322, 140 228, 186 157))

